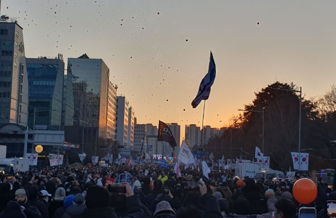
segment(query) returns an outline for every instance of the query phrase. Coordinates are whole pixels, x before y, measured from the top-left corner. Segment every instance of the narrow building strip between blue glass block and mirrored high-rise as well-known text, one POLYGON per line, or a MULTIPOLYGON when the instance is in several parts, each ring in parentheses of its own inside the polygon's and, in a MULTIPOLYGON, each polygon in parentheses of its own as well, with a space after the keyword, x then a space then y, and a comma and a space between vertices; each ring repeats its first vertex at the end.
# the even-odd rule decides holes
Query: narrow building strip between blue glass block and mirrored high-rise
POLYGON ((71 67, 68 66, 67 71, 64 73, 63 80, 63 100, 62 100, 62 126, 61 130, 64 130, 64 126, 73 126, 73 117, 75 113, 74 101, 73 101, 73 75, 71 67))

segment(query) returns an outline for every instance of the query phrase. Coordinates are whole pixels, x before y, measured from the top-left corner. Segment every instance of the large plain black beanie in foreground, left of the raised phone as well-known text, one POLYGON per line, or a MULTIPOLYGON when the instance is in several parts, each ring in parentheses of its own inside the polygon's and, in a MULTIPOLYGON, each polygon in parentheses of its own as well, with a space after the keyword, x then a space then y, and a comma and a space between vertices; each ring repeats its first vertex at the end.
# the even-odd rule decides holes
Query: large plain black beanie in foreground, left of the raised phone
POLYGON ((109 207, 110 195, 105 187, 91 185, 86 195, 88 209, 109 207))

